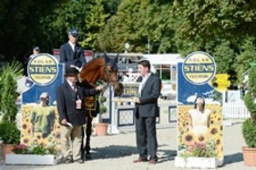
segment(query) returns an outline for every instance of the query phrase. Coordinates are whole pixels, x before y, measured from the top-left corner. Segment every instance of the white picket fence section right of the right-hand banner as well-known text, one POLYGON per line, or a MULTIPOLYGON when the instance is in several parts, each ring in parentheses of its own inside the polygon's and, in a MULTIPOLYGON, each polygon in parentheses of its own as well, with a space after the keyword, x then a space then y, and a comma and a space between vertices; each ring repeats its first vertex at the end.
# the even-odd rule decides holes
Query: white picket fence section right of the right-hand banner
POLYGON ((250 117, 250 112, 248 112, 243 100, 223 103, 222 112, 224 118, 245 119, 250 117))

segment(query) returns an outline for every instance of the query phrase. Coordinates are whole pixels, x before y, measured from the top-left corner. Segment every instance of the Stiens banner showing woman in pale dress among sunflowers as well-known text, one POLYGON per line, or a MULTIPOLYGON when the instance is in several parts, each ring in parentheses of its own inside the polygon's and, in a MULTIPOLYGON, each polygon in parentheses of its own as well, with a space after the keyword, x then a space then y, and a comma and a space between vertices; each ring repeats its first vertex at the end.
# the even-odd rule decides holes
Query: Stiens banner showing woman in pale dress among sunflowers
POLYGON ((224 161, 222 94, 210 85, 216 65, 196 51, 178 63, 178 157, 216 157, 224 161))

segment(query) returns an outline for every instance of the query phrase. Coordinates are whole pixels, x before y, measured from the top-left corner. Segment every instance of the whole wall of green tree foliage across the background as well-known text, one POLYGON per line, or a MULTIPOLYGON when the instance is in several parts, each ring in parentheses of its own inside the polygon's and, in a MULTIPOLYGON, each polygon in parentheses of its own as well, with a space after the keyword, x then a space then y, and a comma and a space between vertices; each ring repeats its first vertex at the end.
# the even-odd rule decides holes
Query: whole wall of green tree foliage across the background
POLYGON ((51 53, 80 31, 80 44, 94 51, 181 53, 206 51, 217 73, 230 74, 236 89, 255 60, 253 0, 3 0, 0 58, 26 63, 33 46, 51 53))

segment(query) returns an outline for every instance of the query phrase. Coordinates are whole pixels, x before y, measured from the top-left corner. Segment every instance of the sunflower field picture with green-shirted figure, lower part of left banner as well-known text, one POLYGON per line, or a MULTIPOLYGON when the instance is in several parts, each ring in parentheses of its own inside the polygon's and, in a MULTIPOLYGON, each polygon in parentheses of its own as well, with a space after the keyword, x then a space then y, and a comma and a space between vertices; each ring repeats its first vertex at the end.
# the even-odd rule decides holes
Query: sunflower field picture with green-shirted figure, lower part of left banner
POLYGON ((23 105, 20 143, 61 150, 61 126, 56 106, 23 105))

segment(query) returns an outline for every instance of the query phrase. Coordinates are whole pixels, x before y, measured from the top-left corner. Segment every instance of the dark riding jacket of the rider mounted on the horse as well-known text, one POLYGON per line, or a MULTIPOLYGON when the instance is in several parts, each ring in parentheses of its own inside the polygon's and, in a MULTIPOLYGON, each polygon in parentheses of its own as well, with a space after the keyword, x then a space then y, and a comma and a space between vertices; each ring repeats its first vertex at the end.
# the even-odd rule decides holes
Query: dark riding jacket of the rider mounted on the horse
POLYGON ((83 67, 86 63, 83 48, 75 44, 75 51, 73 51, 68 42, 63 44, 61 46, 60 63, 66 64, 66 67, 70 67, 71 65, 83 67))

